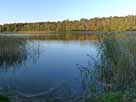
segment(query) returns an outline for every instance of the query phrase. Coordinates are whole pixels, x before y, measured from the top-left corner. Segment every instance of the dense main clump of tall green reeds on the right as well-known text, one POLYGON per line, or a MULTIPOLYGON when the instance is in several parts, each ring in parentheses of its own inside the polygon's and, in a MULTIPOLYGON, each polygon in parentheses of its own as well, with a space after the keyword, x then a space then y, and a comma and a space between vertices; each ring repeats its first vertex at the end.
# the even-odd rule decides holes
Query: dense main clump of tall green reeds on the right
POLYGON ((114 90, 124 90, 136 80, 136 40, 131 36, 117 39, 106 35, 100 46, 99 80, 114 90))

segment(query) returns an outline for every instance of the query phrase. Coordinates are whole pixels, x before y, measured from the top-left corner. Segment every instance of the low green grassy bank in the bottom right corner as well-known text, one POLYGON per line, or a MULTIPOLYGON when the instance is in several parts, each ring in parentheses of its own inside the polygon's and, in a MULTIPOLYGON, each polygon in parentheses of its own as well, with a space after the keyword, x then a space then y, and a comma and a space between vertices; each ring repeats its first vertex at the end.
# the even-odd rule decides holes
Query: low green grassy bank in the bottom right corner
POLYGON ((106 92, 100 96, 88 98, 86 102, 136 102, 136 89, 106 92))

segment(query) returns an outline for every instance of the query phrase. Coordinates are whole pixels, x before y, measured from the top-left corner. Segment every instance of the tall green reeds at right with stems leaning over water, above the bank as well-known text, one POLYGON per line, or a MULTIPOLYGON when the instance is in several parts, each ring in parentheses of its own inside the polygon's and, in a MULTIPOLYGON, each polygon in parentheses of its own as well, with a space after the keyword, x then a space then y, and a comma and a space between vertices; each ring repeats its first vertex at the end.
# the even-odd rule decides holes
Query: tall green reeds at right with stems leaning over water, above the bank
POLYGON ((80 66, 82 82, 87 83, 86 98, 113 92, 112 97, 112 95, 116 96, 114 92, 119 94, 121 92, 122 95, 134 89, 136 82, 136 37, 134 35, 123 35, 123 37, 118 34, 101 35, 98 58, 94 59, 91 56, 90 58, 93 65, 88 68, 80 66))

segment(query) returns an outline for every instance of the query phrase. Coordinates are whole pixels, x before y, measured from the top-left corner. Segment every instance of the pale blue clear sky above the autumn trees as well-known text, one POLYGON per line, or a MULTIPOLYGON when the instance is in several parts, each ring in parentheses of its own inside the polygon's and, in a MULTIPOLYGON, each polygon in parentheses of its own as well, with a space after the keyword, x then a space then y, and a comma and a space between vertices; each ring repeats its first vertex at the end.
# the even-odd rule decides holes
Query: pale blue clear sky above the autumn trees
POLYGON ((0 23, 136 15, 136 0, 0 0, 0 23))

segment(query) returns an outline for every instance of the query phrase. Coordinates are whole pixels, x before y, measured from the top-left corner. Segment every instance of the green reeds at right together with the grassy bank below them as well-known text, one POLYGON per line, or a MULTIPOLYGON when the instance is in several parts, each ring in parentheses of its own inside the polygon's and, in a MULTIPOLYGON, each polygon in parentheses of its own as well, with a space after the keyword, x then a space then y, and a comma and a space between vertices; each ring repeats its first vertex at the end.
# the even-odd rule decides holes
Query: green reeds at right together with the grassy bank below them
MULTIPOLYGON (((96 61, 95 88, 101 92, 90 91, 89 98, 83 102, 135 102, 136 101, 136 39, 135 35, 121 38, 116 34, 101 35, 96 61)), ((93 60, 93 58, 92 58, 93 60)), ((85 69, 85 68, 84 68, 85 69)), ((85 69, 86 79, 94 76, 92 68, 85 69)), ((89 80, 92 82, 91 80, 89 80)), ((89 85, 91 85, 89 83, 89 85)), ((90 86, 89 86, 90 87, 90 86)))

